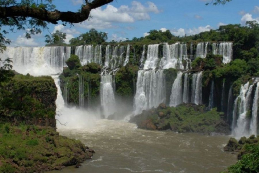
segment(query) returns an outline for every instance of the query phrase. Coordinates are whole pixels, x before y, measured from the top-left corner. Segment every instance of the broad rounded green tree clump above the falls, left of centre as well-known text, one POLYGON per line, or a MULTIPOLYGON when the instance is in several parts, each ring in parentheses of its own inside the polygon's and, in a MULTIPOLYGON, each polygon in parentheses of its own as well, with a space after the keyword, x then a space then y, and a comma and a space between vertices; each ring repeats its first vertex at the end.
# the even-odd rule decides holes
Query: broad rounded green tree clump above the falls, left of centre
POLYGON ((79 46, 84 44, 102 44, 107 40, 107 33, 98 32, 95 29, 90 29, 89 32, 79 35, 79 37, 72 38, 69 43, 72 46, 79 46))

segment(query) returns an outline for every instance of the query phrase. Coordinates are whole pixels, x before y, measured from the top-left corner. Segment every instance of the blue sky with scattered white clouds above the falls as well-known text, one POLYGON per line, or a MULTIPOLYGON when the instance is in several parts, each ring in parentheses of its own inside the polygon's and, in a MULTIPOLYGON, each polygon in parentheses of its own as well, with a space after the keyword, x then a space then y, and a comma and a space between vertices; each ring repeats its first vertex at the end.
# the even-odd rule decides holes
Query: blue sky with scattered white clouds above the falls
MULTIPOLYGON (((57 10, 77 12, 84 0, 54 0, 57 10)), ((232 0, 225 5, 205 5, 212 0, 114 0, 91 11, 91 17, 74 26, 49 24, 48 30, 25 38, 25 31, 5 35, 10 46, 44 46, 45 35, 56 30, 66 33, 66 40, 77 37, 94 28, 108 34, 107 41, 131 40, 143 37, 150 30, 170 30, 173 35, 193 35, 220 25, 259 22, 258 0, 232 0)), ((8 28, 3 28, 8 30, 8 28)))

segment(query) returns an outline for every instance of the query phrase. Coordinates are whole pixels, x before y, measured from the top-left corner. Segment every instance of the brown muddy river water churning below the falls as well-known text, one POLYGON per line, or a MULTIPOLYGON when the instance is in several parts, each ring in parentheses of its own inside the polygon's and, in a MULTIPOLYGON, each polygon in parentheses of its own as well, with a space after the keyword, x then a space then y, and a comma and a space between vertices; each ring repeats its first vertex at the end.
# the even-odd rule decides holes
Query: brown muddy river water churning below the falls
POLYGON ((147 131, 111 120, 96 121, 91 128, 58 131, 81 140, 96 153, 80 168, 49 173, 218 173, 237 161, 236 155, 223 152, 229 136, 147 131))

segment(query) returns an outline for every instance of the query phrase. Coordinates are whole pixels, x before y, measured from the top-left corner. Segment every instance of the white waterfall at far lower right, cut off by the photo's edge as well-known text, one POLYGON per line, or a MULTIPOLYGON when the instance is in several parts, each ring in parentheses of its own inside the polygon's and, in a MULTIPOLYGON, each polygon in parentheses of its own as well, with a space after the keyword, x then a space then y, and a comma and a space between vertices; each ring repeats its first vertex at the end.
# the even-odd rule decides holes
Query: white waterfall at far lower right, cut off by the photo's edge
POLYGON ((258 125, 258 97, 259 97, 259 82, 256 84, 256 91, 254 94, 253 108, 252 108, 252 120, 250 122, 250 134, 257 136, 258 125))

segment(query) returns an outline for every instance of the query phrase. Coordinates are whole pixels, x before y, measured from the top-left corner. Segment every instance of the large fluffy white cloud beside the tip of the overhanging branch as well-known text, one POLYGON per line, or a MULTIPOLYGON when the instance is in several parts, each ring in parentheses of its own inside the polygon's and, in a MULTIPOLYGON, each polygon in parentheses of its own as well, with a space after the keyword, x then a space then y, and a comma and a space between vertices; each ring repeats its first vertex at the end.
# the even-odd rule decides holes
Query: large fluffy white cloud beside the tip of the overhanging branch
POLYGON ((89 20, 77 26, 91 29, 118 28, 116 23, 133 23, 136 20, 150 20, 150 13, 159 13, 153 2, 146 2, 145 5, 138 1, 132 1, 131 6, 121 5, 119 8, 107 5, 106 8, 98 7, 91 10, 89 20))

